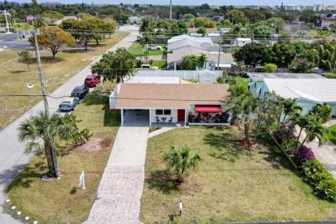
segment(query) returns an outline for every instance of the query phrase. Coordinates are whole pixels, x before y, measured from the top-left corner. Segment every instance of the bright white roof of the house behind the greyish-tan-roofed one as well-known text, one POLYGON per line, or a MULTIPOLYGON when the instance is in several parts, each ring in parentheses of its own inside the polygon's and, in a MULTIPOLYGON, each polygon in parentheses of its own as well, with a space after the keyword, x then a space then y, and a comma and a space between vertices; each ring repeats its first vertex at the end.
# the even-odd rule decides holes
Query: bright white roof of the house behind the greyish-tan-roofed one
POLYGON ((219 50, 219 45, 214 45, 212 42, 206 42, 208 40, 204 40, 204 42, 200 41, 195 41, 192 38, 181 38, 178 41, 173 41, 171 43, 168 43, 168 51, 174 51, 174 50, 179 50, 181 48, 188 48, 188 47, 193 47, 193 48, 198 48, 201 50, 207 50, 207 51, 215 51, 218 52, 219 50))

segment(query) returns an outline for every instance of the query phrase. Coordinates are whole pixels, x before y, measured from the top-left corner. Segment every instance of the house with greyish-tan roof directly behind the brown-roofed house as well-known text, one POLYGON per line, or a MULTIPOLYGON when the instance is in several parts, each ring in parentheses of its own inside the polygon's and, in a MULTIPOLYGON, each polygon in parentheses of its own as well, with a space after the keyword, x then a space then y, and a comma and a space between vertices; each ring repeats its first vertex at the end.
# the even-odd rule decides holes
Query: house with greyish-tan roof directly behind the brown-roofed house
MULTIPOLYGON (((204 63, 204 67, 200 69, 216 70, 218 67, 218 52, 208 52, 200 48, 186 47, 178 50, 174 50, 172 53, 167 54, 168 68, 171 70, 181 70, 181 64, 183 57, 186 55, 206 55, 207 61, 204 63)), ((237 66, 235 60, 230 53, 221 52, 221 58, 219 61, 220 68, 231 68, 237 66)))

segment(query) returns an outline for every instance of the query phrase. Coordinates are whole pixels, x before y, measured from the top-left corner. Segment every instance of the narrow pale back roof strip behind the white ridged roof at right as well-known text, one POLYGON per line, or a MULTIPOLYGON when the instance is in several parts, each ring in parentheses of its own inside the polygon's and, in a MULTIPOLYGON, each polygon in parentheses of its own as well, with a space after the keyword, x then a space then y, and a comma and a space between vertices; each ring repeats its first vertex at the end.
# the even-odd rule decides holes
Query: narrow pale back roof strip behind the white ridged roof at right
POLYGON ((265 78, 324 78, 316 73, 247 73, 251 80, 263 80, 265 78))

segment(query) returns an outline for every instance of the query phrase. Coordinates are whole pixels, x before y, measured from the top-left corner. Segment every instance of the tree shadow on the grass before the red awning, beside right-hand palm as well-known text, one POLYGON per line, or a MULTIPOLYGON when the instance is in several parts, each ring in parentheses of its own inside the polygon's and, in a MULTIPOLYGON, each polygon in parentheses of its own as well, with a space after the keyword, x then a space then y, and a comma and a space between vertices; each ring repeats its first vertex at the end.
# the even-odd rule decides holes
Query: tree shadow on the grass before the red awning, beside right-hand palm
MULTIPOLYGON (((224 130, 223 128, 216 128, 217 130, 224 130)), ((243 146, 235 134, 222 132, 220 134, 210 133, 204 137, 205 144, 214 146, 216 151, 211 152, 210 155, 221 160, 228 160, 235 162, 241 156, 252 156, 251 149, 243 146)))

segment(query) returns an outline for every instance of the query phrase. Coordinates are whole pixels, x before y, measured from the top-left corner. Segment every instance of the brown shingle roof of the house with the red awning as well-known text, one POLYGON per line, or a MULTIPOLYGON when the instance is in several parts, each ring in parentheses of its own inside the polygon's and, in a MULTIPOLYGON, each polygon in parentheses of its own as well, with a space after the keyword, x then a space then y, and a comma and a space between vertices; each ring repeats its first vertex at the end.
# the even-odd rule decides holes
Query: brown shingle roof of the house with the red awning
POLYGON ((223 104, 228 84, 120 85, 116 109, 186 109, 190 104, 223 104))

